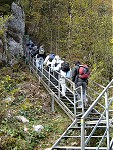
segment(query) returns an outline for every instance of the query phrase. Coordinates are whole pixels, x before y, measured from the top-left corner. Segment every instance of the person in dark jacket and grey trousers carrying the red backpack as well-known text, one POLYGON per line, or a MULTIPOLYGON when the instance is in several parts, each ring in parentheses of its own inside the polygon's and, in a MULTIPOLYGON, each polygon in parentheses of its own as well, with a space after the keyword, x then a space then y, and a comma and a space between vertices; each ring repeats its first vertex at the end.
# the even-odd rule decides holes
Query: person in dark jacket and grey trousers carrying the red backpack
MULTIPOLYGON (((75 62, 75 66, 72 69, 72 81, 75 83, 75 87, 78 88, 82 86, 82 92, 83 92, 83 102, 86 105, 86 86, 87 86, 87 79, 81 79, 79 77, 79 67, 81 63, 79 61, 75 62)), ((77 90, 78 97, 81 97, 81 90, 80 88, 77 90)), ((82 107, 82 102, 78 102, 78 107, 82 107)))

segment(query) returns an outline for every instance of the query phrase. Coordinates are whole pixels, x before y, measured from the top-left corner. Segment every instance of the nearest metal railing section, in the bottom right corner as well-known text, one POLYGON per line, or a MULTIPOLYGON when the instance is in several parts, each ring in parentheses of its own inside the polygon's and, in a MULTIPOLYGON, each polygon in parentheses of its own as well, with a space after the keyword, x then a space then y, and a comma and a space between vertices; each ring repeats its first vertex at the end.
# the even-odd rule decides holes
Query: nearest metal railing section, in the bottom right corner
POLYGON ((113 105, 112 84, 113 80, 104 88, 101 94, 96 98, 96 100, 81 118, 82 150, 85 150, 85 147, 88 147, 88 145, 91 146, 92 141, 92 145, 96 145, 96 150, 99 150, 100 147, 106 147, 107 150, 110 149, 110 127, 112 126, 112 115, 110 115, 109 110, 112 109, 113 105), (101 116, 97 118, 96 121, 91 119, 87 121, 87 118, 89 118, 88 116, 94 108, 98 109, 98 112, 100 112, 101 116), (93 126, 88 133, 88 137, 86 137, 85 127, 89 124, 93 124, 93 126), (101 132, 99 132, 99 130, 101 130, 101 132), (98 136, 98 134, 100 135, 98 136), (96 141, 95 144, 94 138, 96 141))

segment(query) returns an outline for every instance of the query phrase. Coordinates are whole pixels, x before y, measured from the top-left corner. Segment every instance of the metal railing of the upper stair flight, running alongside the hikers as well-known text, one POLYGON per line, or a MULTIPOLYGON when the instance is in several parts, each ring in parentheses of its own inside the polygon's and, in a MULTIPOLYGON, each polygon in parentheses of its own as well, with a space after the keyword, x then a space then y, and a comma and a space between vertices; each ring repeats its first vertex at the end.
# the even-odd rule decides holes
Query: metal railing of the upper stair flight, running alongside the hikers
MULTIPOLYGON (((26 49, 28 50, 28 49, 26 49)), ((29 51, 25 52, 26 61, 29 64, 30 70, 33 71, 40 80, 43 81, 46 88, 50 89, 50 93, 54 96, 55 101, 58 102, 61 108, 67 113, 67 115, 74 120, 77 116, 84 114, 83 94, 82 87, 75 88, 75 84, 68 78, 65 79, 64 87, 66 88, 66 103, 62 100, 62 90, 60 79, 62 78, 60 72, 52 71, 51 67, 42 66, 41 69, 36 67, 36 60, 32 58, 29 51), (57 74, 58 78, 56 78, 57 74), (57 85, 56 85, 57 83, 57 85), (77 91, 81 91, 80 95, 77 91), (77 112, 78 103, 82 103, 81 113, 77 112)), ((25 61, 25 62, 26 62, 25 61)))

